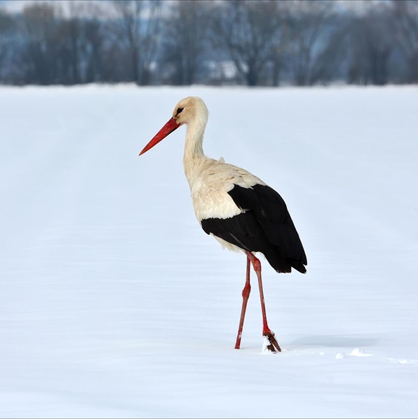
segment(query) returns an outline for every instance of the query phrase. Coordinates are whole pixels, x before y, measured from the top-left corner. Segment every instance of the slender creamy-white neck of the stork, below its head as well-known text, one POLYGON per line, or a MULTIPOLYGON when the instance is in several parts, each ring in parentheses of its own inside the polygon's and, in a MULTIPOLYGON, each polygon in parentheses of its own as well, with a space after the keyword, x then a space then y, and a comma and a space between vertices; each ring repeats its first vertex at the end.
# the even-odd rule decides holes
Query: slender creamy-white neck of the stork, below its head
POLYGON ((194 121, 188 124, 186 131, 186 142, 184 143, 184 172, 191 183, 193 170, 202 160, 207 159, 203 152, 203 133, 206 121, 194 121))

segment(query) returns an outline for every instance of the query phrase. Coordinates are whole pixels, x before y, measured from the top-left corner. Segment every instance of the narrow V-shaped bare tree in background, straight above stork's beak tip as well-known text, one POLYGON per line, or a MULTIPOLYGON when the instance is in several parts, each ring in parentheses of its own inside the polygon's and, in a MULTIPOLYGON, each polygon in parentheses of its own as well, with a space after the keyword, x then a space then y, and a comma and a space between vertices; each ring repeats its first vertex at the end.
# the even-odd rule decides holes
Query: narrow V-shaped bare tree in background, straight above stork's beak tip
POLYGON ((118 13, 119 34, 129 51, 131 80, 149 84, 150 65, 158 43, 161 1, 117 0, 114 8, 118 13))

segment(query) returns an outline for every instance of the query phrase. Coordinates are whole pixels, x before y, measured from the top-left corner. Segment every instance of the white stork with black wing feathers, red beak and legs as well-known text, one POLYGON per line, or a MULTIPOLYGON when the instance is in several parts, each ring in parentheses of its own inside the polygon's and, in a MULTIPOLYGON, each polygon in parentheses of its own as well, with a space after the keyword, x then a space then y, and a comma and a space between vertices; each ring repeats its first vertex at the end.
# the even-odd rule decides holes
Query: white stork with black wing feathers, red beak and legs
POLYGON ((181 99, 172 117, 142 149, 140 156, 180 126, 187 126, 183 164, 197 221, 223 247, 246 255, 246 281, 241 293, 235 348, 241 346, 253 265, 260 291, 263 351, 281 352, 267 323, 261 262, 255 253, 262 253, 278 273, 288 273, 293 268, 302 274, 306 273, 308 264, 306 253, 285 201, 273 188, 251 172, 225 163, 223 158, 211 159, 204 154, 202 142, 208 117, 202 98, 181 99))

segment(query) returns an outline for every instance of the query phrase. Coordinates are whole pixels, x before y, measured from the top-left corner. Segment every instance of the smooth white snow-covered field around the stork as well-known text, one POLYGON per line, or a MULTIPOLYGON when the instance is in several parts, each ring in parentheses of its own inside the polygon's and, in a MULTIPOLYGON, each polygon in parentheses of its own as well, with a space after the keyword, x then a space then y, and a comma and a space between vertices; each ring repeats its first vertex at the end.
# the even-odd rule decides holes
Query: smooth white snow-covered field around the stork
POLYGON ((418 416, 418 88, 0 89, 0 416, 418 416), (205 152, 288 203, 308 273, 253 275, 195 219, 184 96, 205 152))

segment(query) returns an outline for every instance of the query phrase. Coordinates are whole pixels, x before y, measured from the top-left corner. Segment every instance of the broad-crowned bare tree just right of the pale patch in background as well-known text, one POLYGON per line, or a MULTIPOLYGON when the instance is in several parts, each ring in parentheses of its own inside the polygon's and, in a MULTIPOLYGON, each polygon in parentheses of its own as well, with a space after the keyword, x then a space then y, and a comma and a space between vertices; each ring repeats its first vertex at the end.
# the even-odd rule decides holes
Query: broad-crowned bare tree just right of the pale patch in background
POLYGON ((278 44, 281 3, 224 1, 213 20, 214 45, 225 48, 248 86, 260 84, 260 74, 278 44))

